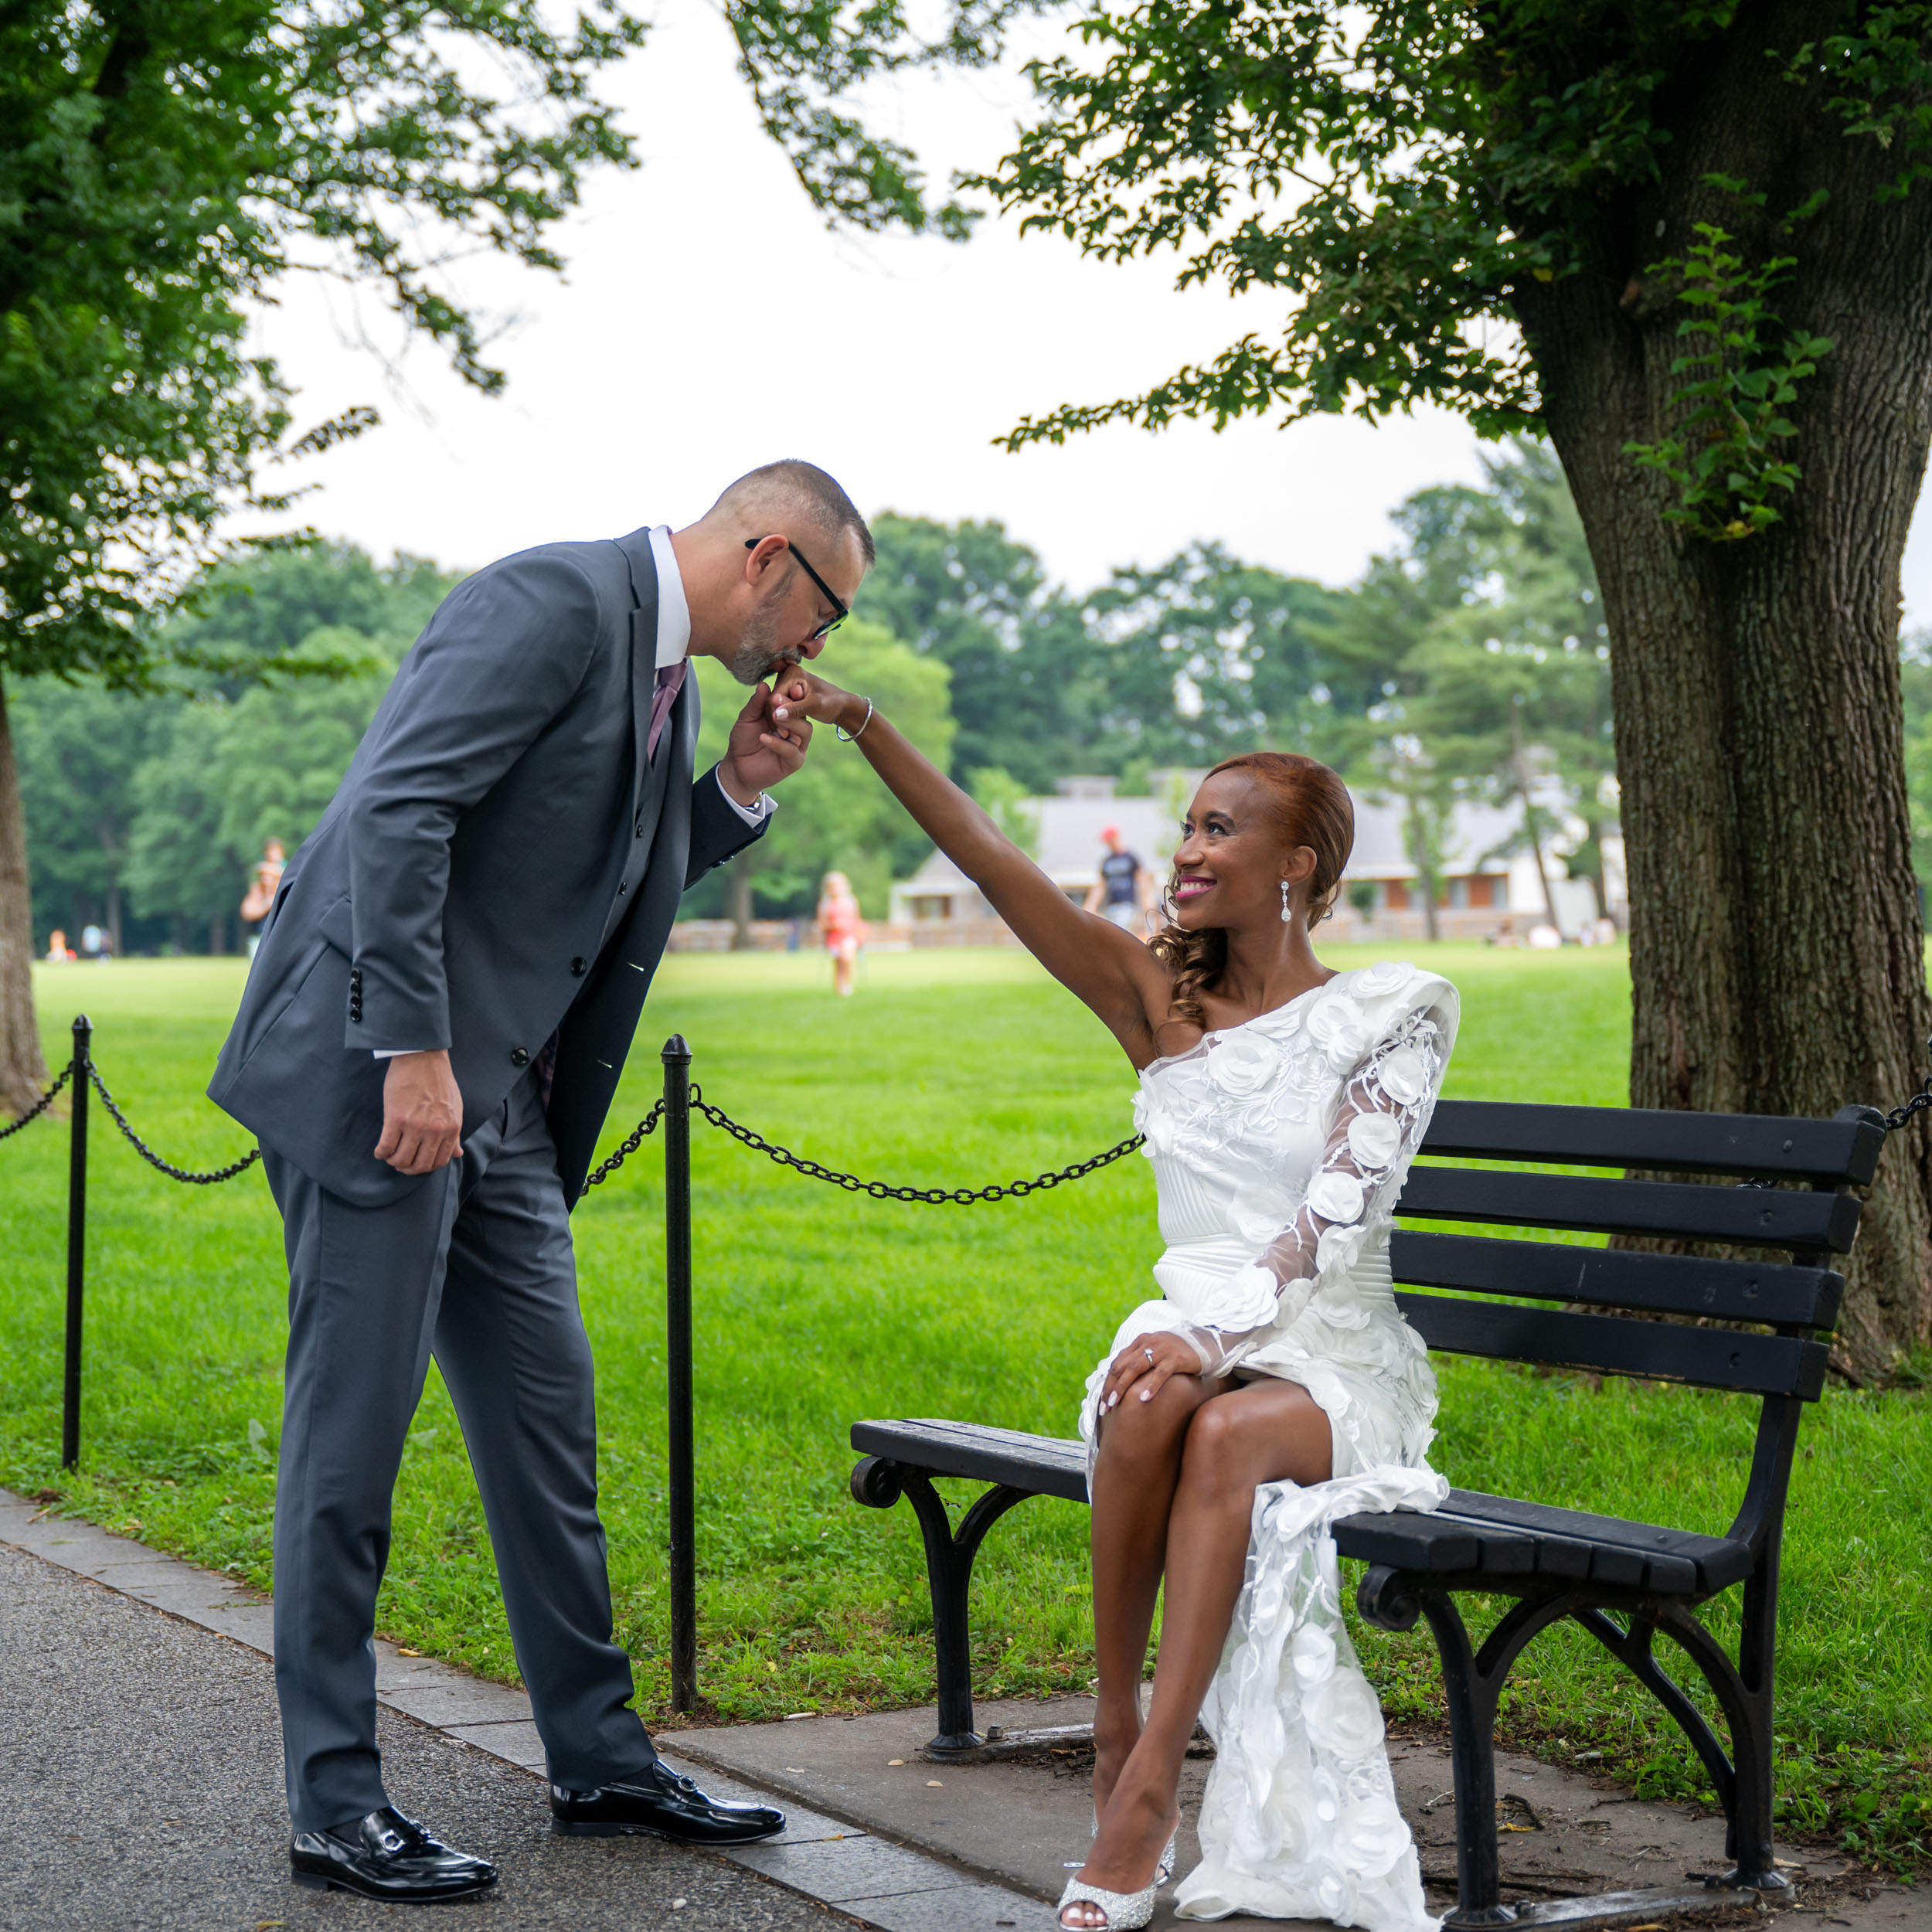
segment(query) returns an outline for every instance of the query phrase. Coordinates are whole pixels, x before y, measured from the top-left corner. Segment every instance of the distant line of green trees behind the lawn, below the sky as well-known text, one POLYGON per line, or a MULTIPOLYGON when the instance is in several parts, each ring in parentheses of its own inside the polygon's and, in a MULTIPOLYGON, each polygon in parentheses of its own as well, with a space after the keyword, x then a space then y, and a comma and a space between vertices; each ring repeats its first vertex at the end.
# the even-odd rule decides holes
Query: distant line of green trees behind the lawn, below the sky
MULTIPOLYGON (((997 522, 887 514, 879 568, 827 668, 879 696, 981 798, 1051 792, 1070 773, 1134 794, 1163 767, 1306 750, 1401 804, 1424 879, 1439 877, 1449 813, 1470 798, 1522 802, 1522 838, 1546 856, 1553 808, 1580 821, 1565 858, 1602 887, 1617 788, 1590 558, 1540 444, 1505 444, 1486 471, 1403 502, 1397 541, 1347 589, 1206 543, 1080 595, 997 522)), ((454 582, 348 545, 272 551, 213 572, 170 647, 311 676, 185 672, 151 697, 19 686, 37 945, 97 923, 116 951, 234 949, 263 842, 294 852, 307 837, 454 582)), ((1932 873, 1932 638, 1907 641, 1903 676, 1915 852, 1932 873)), ((736 703, 723 674, 705 678, 707 753, 736 703)), ((808 916, 838 866, 877 918, 925 850, 858 761, 821 746, 752 862, 707 877, 688 910, 808 916)))

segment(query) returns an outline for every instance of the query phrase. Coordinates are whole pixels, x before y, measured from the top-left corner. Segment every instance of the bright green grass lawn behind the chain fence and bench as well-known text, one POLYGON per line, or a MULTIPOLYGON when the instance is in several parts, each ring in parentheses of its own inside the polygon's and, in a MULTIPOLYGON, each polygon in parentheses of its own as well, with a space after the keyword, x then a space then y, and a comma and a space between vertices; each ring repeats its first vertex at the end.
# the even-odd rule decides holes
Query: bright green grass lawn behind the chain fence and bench
MULTIPOLYGON (((1372 954, 1335 949, 1331 962, 1372 954)), ((1463 987, 1449 1094, 1617 1103, 1623 952, 1439 947, 1463 987)), ((835 1001, 811 954, 676 956, 645 1012, 607 1148, 649 1107, 682 1032, 709 1099, 866 1177, 981 1184, 1061 1167, 1130 1130, 1132 1070, 1099 1024, 1005 952, 871 956, 835 1001)), ((247 1138, 201 1097, 242 968, 226 960, 41 968, 48 1059, 85 1007, 97 1059, 170 1159, 247 1138)), ((1851 1095, 1847 1095, 1851 1097, 1851 1095)), ((185 1188, 95 1109, 83 1463, 58 1468, 66 1229, 62 1126, 0 1146, 0 1480, 267 1588, 280 1426, 280 1227, 259 1173, 185 1188)), ((1126 1159, 1022 1202, 869 1202, 781 1171, 699 1122, 696 1337, 699 1675, 724 1718, 931 1696, 920 1542, 904 1509, 846 1493, 856 1416, 954 1414, 1072 1434, 1080 1383, 1150 1293, 1153 1186, 1126 1159)), ((663 1155, 578 1213, 599 1362, 603 1499, 618 1634, 653 1721, 668 1700, 663 1474, 663 1155)), ((1723 1530, 1754 1405, 1592 1391, 1575 1378, 1439 1362, 1435 1464, 1457 1484, 1723 1530)), ((1806 1418, 1785 1553, 1779 1737, 1785 1820, 1905 1866, 1928 1861, 1932 1397, 1833 1391, 1806 1418)), ((1714 1609, 1725 1627, 1727 1607, 1714 1609)), ((381 1625, 514 1679, 462 1437, 431 1378, 404 1459, 381 1625)), ((989 1540, 976 1689, 1086 1687, 1086 1511, 1041 1499, 989 1540)), ((1416 1633, 1362 1633, 1395 1716, 1439 1710, 1416 1633)), ((1698 1795, 1689 1748, 1578 1631, 1540 1638, 1507 1723, 1551 1756, 1602 1750, 1644 1791, 1698 1795)))

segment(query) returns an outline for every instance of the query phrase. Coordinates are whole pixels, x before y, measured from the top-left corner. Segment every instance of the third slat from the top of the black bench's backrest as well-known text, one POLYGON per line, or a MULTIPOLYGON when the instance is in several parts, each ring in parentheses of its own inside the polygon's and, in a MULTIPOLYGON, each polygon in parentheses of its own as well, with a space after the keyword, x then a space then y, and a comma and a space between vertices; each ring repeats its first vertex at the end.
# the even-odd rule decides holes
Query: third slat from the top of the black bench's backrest
POLYGON ((1845 1293, 1843 1275, 1793 1262, 1710 1262, 1416 1229, 1397 1229, 1389 1238, 1389 1267, 1397 1281, 1418 1289, 1480 1289, 1520 1300, 1654 1308, 1770 1327, 1828 1329, 1845 1293))

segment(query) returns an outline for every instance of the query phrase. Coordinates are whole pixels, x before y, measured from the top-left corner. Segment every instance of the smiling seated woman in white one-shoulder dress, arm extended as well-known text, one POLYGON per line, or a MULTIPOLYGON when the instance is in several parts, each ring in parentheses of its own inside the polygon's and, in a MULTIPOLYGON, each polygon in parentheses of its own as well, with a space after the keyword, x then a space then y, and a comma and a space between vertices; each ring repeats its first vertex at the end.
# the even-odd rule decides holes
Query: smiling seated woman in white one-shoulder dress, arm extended
POLYGON ((856 738, 1140 1070, 1163 1296, 1121 1323, 1080 1414, 1095 1835, 1061 1924, 1148 1922, 1200 1716, 1215 1768, 1182 1917, 1434 1926, 1327 1526, 1447 1493, 1424 1463, 1435 1378, 1391 1294, 1389 1217, 1455 1039, 1455 989, 1412 966, 1335 974, 1316 958, 1310 927, 1354 833, 1347 788, 1316 759, 1258 752, 1208 775, 1169 923, 1142 945, 1074 906, 867 699, 790 672, 777 719, 788 711, 856 738))

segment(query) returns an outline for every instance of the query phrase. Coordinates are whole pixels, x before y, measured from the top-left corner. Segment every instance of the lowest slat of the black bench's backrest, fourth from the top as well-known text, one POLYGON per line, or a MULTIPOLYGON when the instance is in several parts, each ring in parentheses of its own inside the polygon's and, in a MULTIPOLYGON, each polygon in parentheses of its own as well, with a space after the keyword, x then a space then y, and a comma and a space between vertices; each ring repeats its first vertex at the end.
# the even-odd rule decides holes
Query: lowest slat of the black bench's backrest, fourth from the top
POLYGON ((1408 1325, 1447 1354, 1505 1362, 1553 1362, 1607 1376, 1689 1381, 1702 1389, 1797 1395, 1824 1389, 1826 1345, 1791 1335, 1745 1335, 1675 1321, 1573 1316, 1511 1302, 1464 1302, 1453 1294, 1397 1294, 1408 1325))

